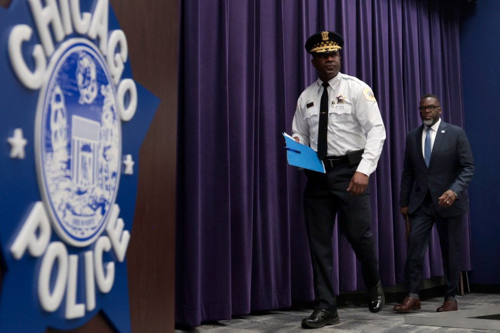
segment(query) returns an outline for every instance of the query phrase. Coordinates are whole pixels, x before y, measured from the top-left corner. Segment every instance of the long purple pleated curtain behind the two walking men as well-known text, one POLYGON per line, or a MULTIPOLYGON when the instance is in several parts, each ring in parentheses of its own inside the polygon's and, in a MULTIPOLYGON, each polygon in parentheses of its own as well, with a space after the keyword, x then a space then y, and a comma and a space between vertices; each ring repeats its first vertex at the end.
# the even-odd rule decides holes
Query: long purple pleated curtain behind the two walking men
MULTIPOLYGON (((177 168, 176 322, 228 319, 312 300, 303 171, 288 166, 299 93, 316 79, 304 42, 344 36, 343 73, 368 83, 387 139, 370 177, 372 232, 383 285, 403 281, 399 180, 419 97, 441 97, 463 125, 454 0, 185 0, 177 168)), ((464 216, 463 270, 469 270, 464 216)), ((336 290, 364 288, 350 245, 335 232, 336 290)), ((442 275, 435 229, 424 277, 442 275)))

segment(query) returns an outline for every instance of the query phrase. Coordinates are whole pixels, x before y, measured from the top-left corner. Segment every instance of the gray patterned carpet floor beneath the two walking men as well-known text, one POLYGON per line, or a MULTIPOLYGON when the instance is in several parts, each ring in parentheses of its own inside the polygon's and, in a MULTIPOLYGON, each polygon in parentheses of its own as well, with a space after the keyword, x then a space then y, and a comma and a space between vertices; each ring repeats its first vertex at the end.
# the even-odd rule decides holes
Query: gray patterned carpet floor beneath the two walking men
MULTIPOLYGON (((458 310, 500 306, 500 294, 465 293, 463 296, 457 296, 456 299, 458 310)), ((410 313, 435 312, 436 308, 442 304, 442 301, 442 297, 422 300, 421 309, 410 313)), ((346 305, 338 307, 340 323, 314 330, 305 330, 300 326, 302 318, 308 317, 312 309, 300 309, 274 310, 233 316, 230 320, 206 322, 191 329, 176 329, 175 332, 498 332, 485 329, 405 324, 404 313, 392 311, 394 304, 386 303, 380 312, 371 313, 367 307, 361 306, 361 304, 347 302, 346 305)))

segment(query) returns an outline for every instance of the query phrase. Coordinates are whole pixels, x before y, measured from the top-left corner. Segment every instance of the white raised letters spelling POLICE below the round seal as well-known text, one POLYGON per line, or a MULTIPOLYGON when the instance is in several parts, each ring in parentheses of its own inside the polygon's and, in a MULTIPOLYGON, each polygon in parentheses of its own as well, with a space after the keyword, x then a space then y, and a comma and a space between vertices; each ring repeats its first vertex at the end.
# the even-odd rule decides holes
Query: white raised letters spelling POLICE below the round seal
POLYGON ((64 292, 66 293, 66 319, 79 318, 85 315, 85 308, 91 311, 95 308, 95 284, 102 293, 111 290, 114 282, 114 262, 102 261, 103 252, 109 252, 111 247, 119 262, 125 258, 126 248, 130 240, 130 233, 123 230, 123 220, 118 218, 119 207, 113 206, 106 226, 107 236, 100 236, 95 241, 92 250, 85 251, 85 304, 76 303, 77 270, 79 256, 68 255, 66 246, 61 241, 50 240, 49 217, 43 203, 34 204, 26 221, 15 238, 10 251, 16 259, 20 259, 28 250, 29 254, 39 257, 43 254, 38 274, 38 298, 41 307, 48 312, 57 310, 61 304, 64 292), (54 263, 57 260, 57 275, 55 285, 50 290, 50 276, 54 263), (104 269, 105 267, 105 269, 104 269), (95 284, 94 284, 95 276, 95 284))

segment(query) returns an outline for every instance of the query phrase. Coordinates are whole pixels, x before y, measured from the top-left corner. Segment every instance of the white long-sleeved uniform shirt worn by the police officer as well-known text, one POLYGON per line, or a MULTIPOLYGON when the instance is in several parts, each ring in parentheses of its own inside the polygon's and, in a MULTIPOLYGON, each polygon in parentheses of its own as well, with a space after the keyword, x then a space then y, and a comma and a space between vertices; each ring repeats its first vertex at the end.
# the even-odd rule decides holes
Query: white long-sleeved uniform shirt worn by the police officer
MULTIPOLYGON (((323 87, 317 80, 297 101, 292 136, 317 151, 319 103, 323 87)), ((338 73, 328 81, 327 156, 342 156, 364 148, 357 171, 370 175, 376 168, 385 140, 385 127, 370 87, 356 77, 338 73)))

